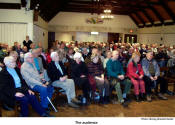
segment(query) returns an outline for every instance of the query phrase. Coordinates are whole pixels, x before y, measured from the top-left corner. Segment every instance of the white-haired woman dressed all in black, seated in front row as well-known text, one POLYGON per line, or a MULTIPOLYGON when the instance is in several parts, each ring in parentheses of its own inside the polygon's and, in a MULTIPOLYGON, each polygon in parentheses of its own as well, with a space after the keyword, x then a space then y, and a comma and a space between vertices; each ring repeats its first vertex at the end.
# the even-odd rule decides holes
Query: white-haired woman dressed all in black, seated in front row
POLYGON ((78 86, 82 87, 83 96, 89 101, 90 84, 88 80, 88 69, 82 61, 82 55, 79 52, 74 54, 74 60, 71 63, 71 76, 78 86))

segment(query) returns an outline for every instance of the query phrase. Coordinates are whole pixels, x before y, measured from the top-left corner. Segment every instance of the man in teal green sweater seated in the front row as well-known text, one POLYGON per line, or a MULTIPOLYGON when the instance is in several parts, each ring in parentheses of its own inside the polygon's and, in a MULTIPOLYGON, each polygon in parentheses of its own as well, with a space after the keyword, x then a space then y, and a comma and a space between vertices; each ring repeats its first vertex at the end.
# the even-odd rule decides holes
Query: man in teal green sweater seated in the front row
POLYGON ((112 52, 112 58, 108 60, 106 64, 107 75, 111 80, 111 84, 115 87, 119 102, 125 107, 127 99, 127 94, 130 92, 131 81, 125 78, 125 73, 123 67, 118 60, 119 51, 115 50, 112 52), (122 96, 122 91, 120 84, 125 85, 125 89, 122 96))

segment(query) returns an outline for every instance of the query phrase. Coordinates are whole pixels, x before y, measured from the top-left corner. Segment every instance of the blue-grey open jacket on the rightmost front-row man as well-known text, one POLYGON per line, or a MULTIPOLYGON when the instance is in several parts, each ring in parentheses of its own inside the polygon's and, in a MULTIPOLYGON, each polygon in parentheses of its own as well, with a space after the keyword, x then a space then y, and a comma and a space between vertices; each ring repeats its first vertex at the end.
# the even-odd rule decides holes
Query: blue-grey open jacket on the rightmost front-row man
MULTIPOLYGON (((157 61, 155 59, 152 59, 151 61, 154 65, 155 76, 160 76, 160 68, 157 61)), ((144 75, 150 77, 151 74, 149 72, 149 60, 147 58, 143 58, 141 64, 144 71, 144 75)))

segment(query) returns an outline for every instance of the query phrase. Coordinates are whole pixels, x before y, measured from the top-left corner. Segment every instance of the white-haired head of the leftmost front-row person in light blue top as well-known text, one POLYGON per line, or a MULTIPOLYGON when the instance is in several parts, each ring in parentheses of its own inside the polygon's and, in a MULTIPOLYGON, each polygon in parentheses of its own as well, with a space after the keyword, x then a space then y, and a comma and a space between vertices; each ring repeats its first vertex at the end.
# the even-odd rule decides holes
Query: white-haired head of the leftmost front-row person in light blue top
POLYGON ((10 68, 15 68, 16 66, 16 62, 15 62, 15 59, 12 57, 12 56, 7 56, 4 58, 4 64, 7 66, 7 67, 10 67, 10 68))

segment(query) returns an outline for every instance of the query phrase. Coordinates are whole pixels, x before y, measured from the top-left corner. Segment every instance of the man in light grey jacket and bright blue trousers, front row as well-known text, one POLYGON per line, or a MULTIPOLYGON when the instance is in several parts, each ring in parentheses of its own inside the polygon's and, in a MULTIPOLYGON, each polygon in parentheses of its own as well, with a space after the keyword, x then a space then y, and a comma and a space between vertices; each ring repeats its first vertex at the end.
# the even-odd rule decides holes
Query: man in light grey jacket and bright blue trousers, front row
POLYGON ((32 53, 28 52, 24 55, 24 63, 21 66, 21 74, 26 83, 33 91, 40 93, 41 105, 48 110, 49 101, 47 97, 51 98, 53 94, 53 87, 49 85, 48 80, 44 75, 39 74, 35 64, 32 53))

